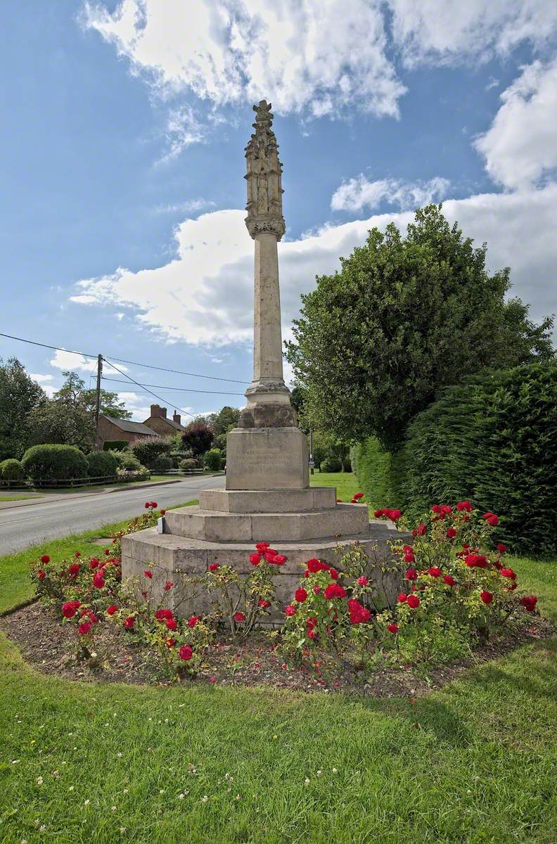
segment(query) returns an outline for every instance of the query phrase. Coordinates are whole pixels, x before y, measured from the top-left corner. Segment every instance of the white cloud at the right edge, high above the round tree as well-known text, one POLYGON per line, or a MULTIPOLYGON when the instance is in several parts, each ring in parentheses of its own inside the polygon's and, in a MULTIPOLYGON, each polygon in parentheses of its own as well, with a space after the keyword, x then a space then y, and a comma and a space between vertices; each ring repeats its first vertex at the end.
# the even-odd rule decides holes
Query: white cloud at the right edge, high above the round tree
POLYGON ((528 187, 557 167, 557 59, 523 67, 500 99, 495 120, 474 145, 492 179, 528 187))

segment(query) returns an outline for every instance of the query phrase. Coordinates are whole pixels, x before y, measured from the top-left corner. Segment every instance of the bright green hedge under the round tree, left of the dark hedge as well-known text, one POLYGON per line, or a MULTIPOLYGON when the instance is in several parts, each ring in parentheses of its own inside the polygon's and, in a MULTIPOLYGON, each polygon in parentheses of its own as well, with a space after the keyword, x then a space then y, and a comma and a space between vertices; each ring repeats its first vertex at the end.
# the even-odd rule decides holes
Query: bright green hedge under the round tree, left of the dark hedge
POLYGON ((365 500, 371 506, 406 509, 406 455, 403 449, 387 452, 375 436, 370 436, 350 450, 350 459, 360 489, 365 491, 365 500))

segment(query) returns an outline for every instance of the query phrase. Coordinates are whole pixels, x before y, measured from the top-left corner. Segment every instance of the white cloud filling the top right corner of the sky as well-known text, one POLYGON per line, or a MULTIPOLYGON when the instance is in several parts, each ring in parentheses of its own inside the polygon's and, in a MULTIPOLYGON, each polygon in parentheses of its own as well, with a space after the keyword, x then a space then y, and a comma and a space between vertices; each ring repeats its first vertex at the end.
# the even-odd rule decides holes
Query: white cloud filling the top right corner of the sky
POLYGON ((387 0, 393 38, 407 65, 487 61, 521 41, 542 46, 557 32, 550 0, 387 0))

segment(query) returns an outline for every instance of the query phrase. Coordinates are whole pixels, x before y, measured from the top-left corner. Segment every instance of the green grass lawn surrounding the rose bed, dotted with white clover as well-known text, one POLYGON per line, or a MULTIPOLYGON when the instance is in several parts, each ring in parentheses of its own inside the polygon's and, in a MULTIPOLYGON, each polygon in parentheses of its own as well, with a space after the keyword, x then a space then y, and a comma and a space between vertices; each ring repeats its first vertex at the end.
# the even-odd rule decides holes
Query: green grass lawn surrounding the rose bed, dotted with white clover
MULTIPOLYGON (((557 565, 511 565, 557 621, 557 565)), ((553 844, 556 652, 413 703, 70 683, 0 636, 0 842, 553 844)))

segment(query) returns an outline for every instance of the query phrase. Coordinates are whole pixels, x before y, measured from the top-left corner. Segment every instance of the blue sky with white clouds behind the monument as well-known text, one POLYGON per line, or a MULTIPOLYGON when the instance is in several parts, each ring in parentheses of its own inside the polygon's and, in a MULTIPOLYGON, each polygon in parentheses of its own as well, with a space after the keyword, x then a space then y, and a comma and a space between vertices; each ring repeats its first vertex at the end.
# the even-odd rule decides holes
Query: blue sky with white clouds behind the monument
MULTIPOLYGON (((316 273, 430 199, 511 266, 534 317, 557 311, 551 4, 8 0, 0 21, 3 333, 249 382, 243 149, 262 96, 284 164, 285 336, 316 273)), ((0 338, 13 354, 49 392, 62 368, 89 381, 86 360, 0 338)), ((144 418, 149 395, 113 387, 144 418)), ((192 414, 242 404, 154 392, 192 414)))

